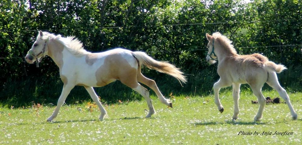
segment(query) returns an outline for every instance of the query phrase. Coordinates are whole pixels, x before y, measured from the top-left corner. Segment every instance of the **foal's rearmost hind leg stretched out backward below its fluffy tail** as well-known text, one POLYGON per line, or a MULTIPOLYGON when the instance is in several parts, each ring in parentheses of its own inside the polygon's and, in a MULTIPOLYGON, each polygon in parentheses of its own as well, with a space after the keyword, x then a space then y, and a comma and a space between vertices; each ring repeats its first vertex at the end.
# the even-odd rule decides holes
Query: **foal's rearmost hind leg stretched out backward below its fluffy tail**
POLYGON ((279 95, 283 98, 283 100, 286 102, 286 104, 288 105, 288 108, 290 110, 290 113, 293 116, 293 119, 296 120, 298 118, 297 113, 295 112, 292 104, 290 103, 288 94, 286 93, 286 91, 280 86, 279 82, 278 82, 278 78, 277 78, 277 74, 275 72, 270 73, 268 75, 268 81, 266 82, 268 85, 270 85, 273 89, 277 90, 279 95))

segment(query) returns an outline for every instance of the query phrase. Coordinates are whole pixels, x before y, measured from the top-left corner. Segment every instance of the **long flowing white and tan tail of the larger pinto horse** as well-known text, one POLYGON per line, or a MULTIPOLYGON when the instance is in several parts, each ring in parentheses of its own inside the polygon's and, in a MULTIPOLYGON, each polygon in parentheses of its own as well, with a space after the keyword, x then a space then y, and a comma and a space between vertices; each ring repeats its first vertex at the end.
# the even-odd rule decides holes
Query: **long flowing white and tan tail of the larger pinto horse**
POLYGON ((175 77, 180 82, 180 84, 182 84, 181 82, 187 82, 186 76, 183 75, 184 73, 181 72, 179 68, 176 68, 173 64, 169 64, 166 61, 156 61, 144 52, 136 51, 133 52, 132 55, 136 59, 138 59, 140 63, 146 65, 148 68, 175 77))

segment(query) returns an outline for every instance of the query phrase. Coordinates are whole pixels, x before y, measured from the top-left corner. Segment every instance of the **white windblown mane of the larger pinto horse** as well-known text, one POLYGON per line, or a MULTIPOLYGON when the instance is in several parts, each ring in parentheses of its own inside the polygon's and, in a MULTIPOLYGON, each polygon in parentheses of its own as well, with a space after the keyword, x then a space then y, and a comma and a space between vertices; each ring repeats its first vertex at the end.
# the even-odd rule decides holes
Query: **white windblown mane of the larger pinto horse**
POLYGON ((53 39, 61 44, 73 55, 75 56, 82 56, 89 52, 87 52, 84 47, 83 43, 78 40, 75 36, 68 36, 66 38, 62 37, 61 35, 54 35, 52 33, 43 32, 43 40, 46 39, 53 39))

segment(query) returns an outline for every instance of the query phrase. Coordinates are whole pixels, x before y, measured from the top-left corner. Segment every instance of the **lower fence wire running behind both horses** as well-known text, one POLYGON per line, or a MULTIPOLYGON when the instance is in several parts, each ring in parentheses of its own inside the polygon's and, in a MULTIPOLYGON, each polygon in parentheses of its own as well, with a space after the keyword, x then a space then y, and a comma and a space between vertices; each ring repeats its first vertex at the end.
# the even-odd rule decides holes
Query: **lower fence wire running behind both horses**
MULTIPOLYGON (((235 47, 238 48, 262 48, 262 47, 289 47, 289 46, 302 46, 302 44, 295 45, 273 45, 273 46, 252 46, 252 47, 235 47)), ((143 51, 145 53, 158 53, 158 52, 179 52, 179 51, 200 51, 200 50, 208 50, 208 49, 187 49, 187 50, 160 50, 160 51, 143 51)), ((25 57, 0 57, 0 59, 20 59, 25 57)))

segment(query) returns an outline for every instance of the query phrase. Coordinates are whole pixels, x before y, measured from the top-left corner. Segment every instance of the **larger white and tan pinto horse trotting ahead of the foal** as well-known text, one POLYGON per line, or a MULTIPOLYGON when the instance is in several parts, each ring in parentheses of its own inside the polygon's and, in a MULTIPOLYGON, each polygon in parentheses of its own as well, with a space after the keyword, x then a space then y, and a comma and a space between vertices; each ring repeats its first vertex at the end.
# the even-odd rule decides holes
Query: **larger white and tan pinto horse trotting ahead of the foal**
POLYGON ((155 113, 149 91, 141 86, 141 82, 150 87, 158 96, 159 100, 172 108, 169 99, 161 94, 155 81, 146 78, 141 73, 141 64, 148 68, 167 73, 178 81, 186 82, 186 77, 174 65, 167 62, 156 61, 143 52, 132 52, 126 49, 113 49, 102 53, 90 53, 83 49, 82 43, 74 37, 61 37, 40 31, 36 42, 31 47, 25 59, 28 63, 40 62, 40 59, 48 55, 59 67, 60 77, 64 83, 61 96, 53 114, 47 119, 52 121, 66 97, 74 86, 84 86, 92 100, 101 110, 99 120, 103 120, 106 110, 98 100, 97 94, 92 87, 105 86, 115 80, 120 80, 126 86, 141 94, 147 101, 151 117, 155 113))

